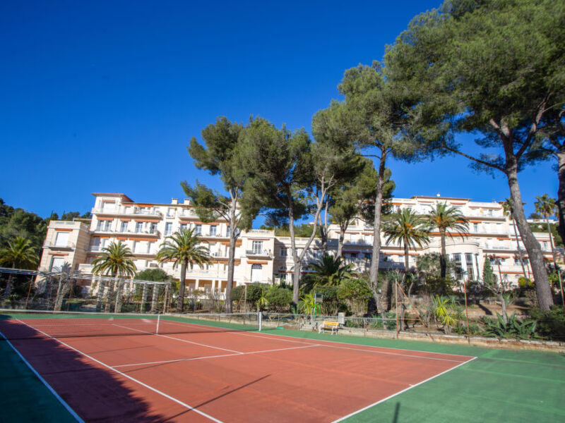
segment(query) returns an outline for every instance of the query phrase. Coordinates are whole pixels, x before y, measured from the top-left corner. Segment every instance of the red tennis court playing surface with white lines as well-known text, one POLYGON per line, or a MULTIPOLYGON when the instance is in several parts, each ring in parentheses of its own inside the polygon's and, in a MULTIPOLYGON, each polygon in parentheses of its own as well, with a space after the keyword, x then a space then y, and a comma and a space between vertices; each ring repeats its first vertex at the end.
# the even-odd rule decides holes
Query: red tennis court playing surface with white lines
POLYGON ((473 359, 163 320, 196 332, 81 324, 136 336, 64 337, 59 327, 53 338, 49 321, 32 319, 0 321, 0 331, 87 422, 335 422, 473 359))

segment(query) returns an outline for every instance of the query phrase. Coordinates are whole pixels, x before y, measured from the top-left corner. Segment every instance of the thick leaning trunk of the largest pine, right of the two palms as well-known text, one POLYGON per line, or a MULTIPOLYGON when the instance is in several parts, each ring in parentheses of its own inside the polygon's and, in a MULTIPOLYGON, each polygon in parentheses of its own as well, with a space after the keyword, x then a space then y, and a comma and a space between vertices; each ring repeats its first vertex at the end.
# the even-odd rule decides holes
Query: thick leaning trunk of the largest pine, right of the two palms
MULTIPOLYGON (((509 157, 507 157, 506 161, 507 163, 509 162, 509 157)), ((553 305, 552 291, 549 287, 547 271, 545 270, 545 262, 540 243, 538 243, 535 239, 532 230, 528 225, 528 221, 525 219, 524 209, 522 206, 522 195, 520 192, 520 185, 518 184, 518 167, 516 166, 516 163, 514 163, 513 166, 507 166, 506 169, 514 219, 516 219, 518 231, 520 232, 525 250, 528 252, 530 266, 532 266, 537 302, 540 305, 541 310, 549 310, 553 305)))

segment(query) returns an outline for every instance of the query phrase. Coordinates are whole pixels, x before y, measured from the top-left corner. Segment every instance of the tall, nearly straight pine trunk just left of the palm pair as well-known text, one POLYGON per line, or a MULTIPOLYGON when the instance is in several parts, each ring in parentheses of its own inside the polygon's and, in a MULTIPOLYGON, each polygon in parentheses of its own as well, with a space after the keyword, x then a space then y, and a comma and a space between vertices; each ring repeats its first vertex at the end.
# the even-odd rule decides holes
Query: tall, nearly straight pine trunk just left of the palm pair
MULTIPOLYGON (((379 180, 376 183, 376 195, 375 195, 375 216, 373 221, 373 250, 371 257, 371 269, 369 271, 369 281, 371 292, 375 299, 377 307, 379 307, 379 313, 382 319, 386 319, 385 310, 382 307, 381 298, 379 294, 379 256, 381 254, 381 207, 383 204, 383 184, 384 184, 384 171, 386 163, 386 150, 381 149, 381 159, 379 161, 379 180)), ((386 283, 383 288, 387 288, 388 283, 386 283)), ((388 297, 388 293, 384 292, 385 298, 388 297)))

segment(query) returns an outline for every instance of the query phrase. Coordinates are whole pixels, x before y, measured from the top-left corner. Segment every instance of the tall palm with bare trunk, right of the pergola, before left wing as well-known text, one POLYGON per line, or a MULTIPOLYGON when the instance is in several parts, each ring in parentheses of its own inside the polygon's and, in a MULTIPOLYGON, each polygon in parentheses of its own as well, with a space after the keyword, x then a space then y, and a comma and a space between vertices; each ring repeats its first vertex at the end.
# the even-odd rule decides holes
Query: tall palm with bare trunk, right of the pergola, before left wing
POLYGON ((182 229, 171 236, 165 238, 161 244, 161 249, 157 252, 157 260, 164 262, 172 260, 173 268, 181 265, 181 280, 179 283, 179 297, 177 298, 177 311, 184 310, 184 283, 186 281, 186 266, 188 264, 210 263, 208 248, 198 245, 200 238, 194 233, 193 229, 182 229))

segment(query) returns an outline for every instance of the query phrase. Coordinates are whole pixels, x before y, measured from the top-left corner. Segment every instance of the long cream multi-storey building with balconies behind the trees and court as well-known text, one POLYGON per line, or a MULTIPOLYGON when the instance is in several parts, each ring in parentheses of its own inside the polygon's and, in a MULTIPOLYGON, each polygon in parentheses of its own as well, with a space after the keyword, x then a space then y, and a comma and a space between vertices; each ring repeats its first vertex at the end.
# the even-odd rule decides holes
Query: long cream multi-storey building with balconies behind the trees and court
MULTIPOLYGON (((60 268, 69 264, 75 271, 90 274, 95 257, 109 243, 121 241, 129 246, 138 270, 162 268, 174 278, 179 278, 179 268, 172 262, 157 262, 156 255, 165 238, 183 228, 194 228, 202 243, 210 250, 212 262, 201 269, 189 267, 186 283, 189 288, 222 293, 227 285, 227 249, 230 226, 218 219, 212 223, 200 221, 190 200, 170 204, 134 202, 121 193, 95 192, 93 218, 90 226, 80 221, 52 221, 45 240, 40 270, 60 268)), ((447 252, 460 269, 460 278, 480 278, 484 260, 489 259, 496 274, 511 283, 517 283, 523 275, 518 259, 518 245, 522 252, 528 275, 531 269, 521 240, 516 242, 513 223, 504 216, 501 204, 496 202, 472 202, 470 199, 416 196, 396 198, 393 207, 410 207, 426 214, 437 202, 447 202, 458 207, 470 221, 470 231, 465 238, 453 234, 447 238, 447 252)), ((337 250, 337 225, 331 225, 328 233, 328 249, 337 250)), ((535 233, 547 260, 552 258, 547 233, 535 233)), ((422 248, 410 250, 410 266, 415 266, 418 255, 440 251, 439 233, 431 234, 431 242, 422 248)), ((306 238, 297 238, 297 247, 304 248, 306 238)), ((373 245, 372 227, 361 219, 353 219, 343 245, 347 262, 359 270, 368 270, 373 245)), ((381 235, 381 269, 404 269, 403 247, 386 245, 381 235)), ((302 273, 308 264, 321 257, 318 239, 309 247, 302 262, 302 273)), ((290 238, 275 236, 274 231, 251 230, 239 235, 235 251, 234 286, 244 283, 275 283, 292 281, 294 263, 290 253, 290 238)))

